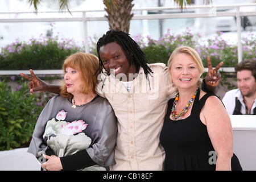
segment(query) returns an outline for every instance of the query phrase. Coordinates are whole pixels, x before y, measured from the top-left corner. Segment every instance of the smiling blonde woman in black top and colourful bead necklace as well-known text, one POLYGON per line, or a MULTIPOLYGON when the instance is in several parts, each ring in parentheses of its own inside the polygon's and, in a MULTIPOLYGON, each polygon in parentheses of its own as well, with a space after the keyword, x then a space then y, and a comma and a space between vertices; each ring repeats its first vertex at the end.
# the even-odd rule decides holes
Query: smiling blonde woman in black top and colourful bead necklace
POLYGON ((200 89, 204 72, 199 54, 179 47, 168 60, 177 95, 168 101, 160 133, 164 170, 240 170, 233 155, 232 125, 221 100, 200 89))

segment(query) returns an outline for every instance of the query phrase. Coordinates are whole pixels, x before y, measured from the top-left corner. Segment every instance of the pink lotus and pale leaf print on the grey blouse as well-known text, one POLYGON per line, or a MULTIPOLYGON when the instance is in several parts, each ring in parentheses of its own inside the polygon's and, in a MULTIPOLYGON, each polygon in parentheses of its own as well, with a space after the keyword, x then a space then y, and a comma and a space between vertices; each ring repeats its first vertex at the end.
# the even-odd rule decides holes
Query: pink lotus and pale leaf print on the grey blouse
MULTIPOLYGON (((43 138, 47 138, 47 146, 59 157, 73 155, 85 150, 92 143, 92 139, 82 132, 88 124, 82 119, 72 122, 64 121, 67 114, 64 110, 59 111, 56 119, 52 118, 47 122, 43 134, 43 138)), ((105 168, 90 166, 80 170, 105 170, 105 168)))

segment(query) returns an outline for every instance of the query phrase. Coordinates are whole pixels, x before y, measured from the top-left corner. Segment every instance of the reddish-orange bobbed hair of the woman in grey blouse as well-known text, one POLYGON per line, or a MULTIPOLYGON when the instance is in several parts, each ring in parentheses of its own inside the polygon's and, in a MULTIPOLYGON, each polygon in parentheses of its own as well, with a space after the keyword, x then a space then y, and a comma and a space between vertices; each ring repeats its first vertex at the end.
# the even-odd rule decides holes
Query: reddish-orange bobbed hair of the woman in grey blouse
MULTIPOLYGON (((82 93, 95 93, 95 88, 98 82, 97 77, 100 73, 98 57, 90 53, 77 52, 73 55, 68 56, 67 59, 65 59, 63 63, 64 73, 67 67, 76 69, 80 72, 83 82, 83 85, 81 87, 82 93)), ((60 96, 69 97, 71 95, 71 93, 67 92, 67 86, 63 81, 60 88, 60 96)))

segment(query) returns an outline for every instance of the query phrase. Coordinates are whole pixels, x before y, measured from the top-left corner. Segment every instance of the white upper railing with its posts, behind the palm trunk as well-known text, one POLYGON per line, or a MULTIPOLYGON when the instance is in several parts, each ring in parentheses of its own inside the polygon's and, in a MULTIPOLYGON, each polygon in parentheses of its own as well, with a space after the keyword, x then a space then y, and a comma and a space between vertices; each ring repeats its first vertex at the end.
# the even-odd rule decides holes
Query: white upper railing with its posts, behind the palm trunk
MULTIPOLYGON (((206 5, 206 6, 187 6, 186 9, 209 9, 206 13, 158 13, 164 10, 177 10, 178 7, 148 7, 148 8, 137 8, 133 11, 143 11, 142 15, 135 14, 133 20, 149 20, 149 19, 172 19, 172 18, 212 18, 218 16, 236 16, 237 23, 237 46, 238 46, 238 63, 242 61, 242 43, 241 43, 241 16, 255 16, 256 11, 241 11, 240 7, 251 7, 256 6, 256 3, 247 3, 239 5, 206 5), (233 12, 218 12, 219 8, 233 8, 236 11, 233 12), (148 14, 148 11, 156 11, 156 14, 148 14)), ((70 17, 70 18, 0 18, 0 23, 20 23, 20 22, 82 22, 84 31, 84 43, 85 52, 89 52, 88 42, 88 27, 87 22, 90 21, 102 21, 107 20, 105 16, 87 16, 89 12, 105 12, 104 10, 85 10, 85 11, 71 11, 71 13, 82 13, 81 17, 70 17)), ((33 12, 20 11, 20 12, 0 12, 1 14, 28 14, 33 12)), ((41 13, 59 13, 59 11, 39 11, 41 13)), ((67 14, 66 14, 67 15, 67 14)), ((71 16, 71 15, 70 15, 71 16)), ((1 71, 2 72, 2 71, 1 71)), ((1 75, 0 72, 0 75, 1 75)), ((8 71, 7 71, 8 72, 8 71)), ((54 72, 54 71, 53 71, 54 72)), ((47 74, 47 73, 44 73, 47 74)))

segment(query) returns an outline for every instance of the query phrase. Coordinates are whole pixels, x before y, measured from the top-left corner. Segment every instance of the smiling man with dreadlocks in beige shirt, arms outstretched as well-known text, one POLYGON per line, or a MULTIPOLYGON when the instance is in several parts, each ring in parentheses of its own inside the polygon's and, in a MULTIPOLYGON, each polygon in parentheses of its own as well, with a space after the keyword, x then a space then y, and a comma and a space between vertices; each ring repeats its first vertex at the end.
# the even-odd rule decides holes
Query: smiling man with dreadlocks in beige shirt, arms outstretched
MULTIPOLYGON (((118 119, 116 164, 110 169, 162 170, 164 150, 159 134, 168 98, 175 94, 166 65, 147 64, 138 44, 122 31, 106 32, 97 42, 97 53, 102 71, 97 93, 108 99, 118 119)), ((216 69, 208 71, 209 90, 220 81, 216 72, 216 69)), ((58 86, 46 84, 34 73, 28 80, 31 93, 38 90, 59 93, 58 86)), ((207 89, 205 82, 203 87, 207 89)))

